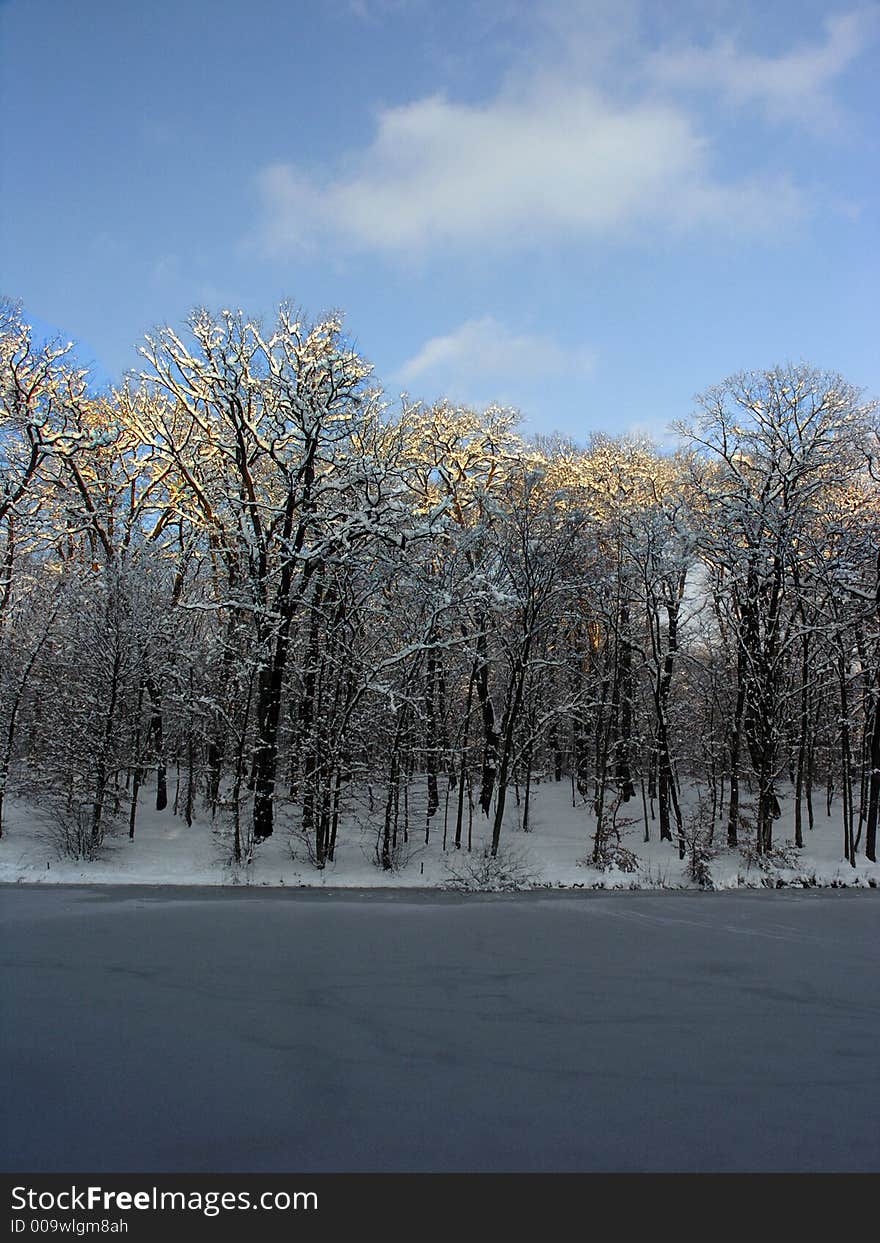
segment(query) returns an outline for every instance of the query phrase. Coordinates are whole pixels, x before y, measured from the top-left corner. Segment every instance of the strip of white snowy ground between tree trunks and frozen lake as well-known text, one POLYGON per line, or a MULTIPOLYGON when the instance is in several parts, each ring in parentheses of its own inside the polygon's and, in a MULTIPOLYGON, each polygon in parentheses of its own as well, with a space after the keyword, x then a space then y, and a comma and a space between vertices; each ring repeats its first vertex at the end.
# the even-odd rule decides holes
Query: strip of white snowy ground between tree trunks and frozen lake
MULTIPOLYGON (((6 804, 5 833, 0 840, 0 881, 34 884, 150 884, 150 885, 234 885, 332 886, 332 888, 457 888, 457 889, 680 889, 697 888, 689 873, 687 859, 679 859, 676 845, 659 840, 656 820, 649 815, 650 840, 645 842, 641 799, 636 797, 618 813, 623 846, 635 855, 629 869, 598 869, 588 863, 595 820, 582 800, 573 805, 568 783, 543 783, 532 792, 529 832, 522 830, 522 807, 511 793, 510 809, 497 864, 485 859, 490 828, 479 810, 472 820, 472 851, 456 851, 452 845, 455 797, 447 810, 444 849, 444 800, 430 823, 425 844, 424 815, 418 814, 419 792, 414 789, 414 809, 409 840, 400 834, 398 866, 383 871, 377 866, 377 822, 365 809, 348 814, 339 829, 336 860, 318 870, 308 858, 306 844, 291 832, 288 822, 280 824, 271 839, 262 843, 251 865, 231 866, 230 833, 222 822, 211 823, 204 812, 191 827, 172 814, 157 813, 150 805, 150 791, 144 788, 138 812, 137 832, 128 839, 121 817, 117 837, 106 842, 101 858, 81 861, 63 858, 51 840, 51 827, 42 812, 15 799, 6 804), (630 822, 630 823, 625 823, 630 822)), ((697 792, 685 791, 686 818, 696 804, 697 792)), ((746 796, 747 803, 747 796, 746 796)), ((864 858, 864 842, 853 868, 843 853, 839 799, 825 814, 824 802, 815 808, 815 828, 804 829, 805 845, 795 851, 791 799, 783 800, 783 814, 774 827, 774 846, 782 848, 758 866, 749 850, 751 834, 742 833, 742 849, 728 850, 725 827, 716 828, 717 853, 708 861, 708 885, 713 889, 794 886, 880 886, 880 865, 864 858), (788 843, 788 844, 787 844, 788 843)))

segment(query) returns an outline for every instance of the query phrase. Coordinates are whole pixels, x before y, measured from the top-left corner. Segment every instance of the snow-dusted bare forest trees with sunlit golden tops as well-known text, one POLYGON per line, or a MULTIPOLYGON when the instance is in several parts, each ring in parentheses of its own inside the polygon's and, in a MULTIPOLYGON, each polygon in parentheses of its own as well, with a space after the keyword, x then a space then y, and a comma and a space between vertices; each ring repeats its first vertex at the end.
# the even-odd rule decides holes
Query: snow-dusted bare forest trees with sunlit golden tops
MULTIPOLYGON (((336 319, 194 313, 99 393, 21 310, 0 322, 5 794, 94 858, 149 793, 333 860, 470 849, 568 782, 615 845, 802 845, 814 808, 876 858, 880 435, 839 375, 696 399, 681 447, 527 441, 513 413, 383 398, 336 319)), ((686 411, 682 411, 682 414, 686 411)), ((625 421, 625 415, 621 415, 625 421)))

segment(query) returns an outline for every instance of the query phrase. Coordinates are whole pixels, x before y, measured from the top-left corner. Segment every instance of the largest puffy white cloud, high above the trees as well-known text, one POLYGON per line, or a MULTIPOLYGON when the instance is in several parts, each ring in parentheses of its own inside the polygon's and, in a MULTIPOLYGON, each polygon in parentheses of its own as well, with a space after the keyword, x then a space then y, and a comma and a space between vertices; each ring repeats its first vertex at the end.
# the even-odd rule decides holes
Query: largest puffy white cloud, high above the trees
POLYGON ((602 239, 644 224, 761 231, 791 219, 791 188, 726 184, 708 164, 706 140, 664 102, 613 104, 546 78, 485 104, 431 96, 382 112, 370 147, 338 175, 264 169, 261 242, 277 255, 331 235, 413 254, 602 239))

